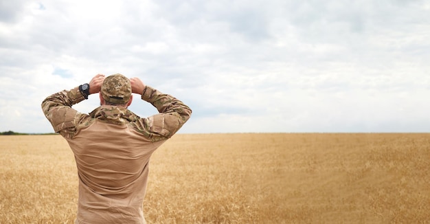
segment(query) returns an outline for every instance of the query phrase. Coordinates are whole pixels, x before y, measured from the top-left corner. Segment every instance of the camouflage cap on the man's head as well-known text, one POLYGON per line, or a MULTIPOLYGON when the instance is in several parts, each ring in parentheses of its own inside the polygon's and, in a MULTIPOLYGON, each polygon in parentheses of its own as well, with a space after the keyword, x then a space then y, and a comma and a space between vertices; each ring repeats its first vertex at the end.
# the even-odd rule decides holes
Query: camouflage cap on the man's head
POLYGON ((103 81, 100 93, 106 102, 126 104, 131 98, 130 80, 122 74, 108 76, 103 81))

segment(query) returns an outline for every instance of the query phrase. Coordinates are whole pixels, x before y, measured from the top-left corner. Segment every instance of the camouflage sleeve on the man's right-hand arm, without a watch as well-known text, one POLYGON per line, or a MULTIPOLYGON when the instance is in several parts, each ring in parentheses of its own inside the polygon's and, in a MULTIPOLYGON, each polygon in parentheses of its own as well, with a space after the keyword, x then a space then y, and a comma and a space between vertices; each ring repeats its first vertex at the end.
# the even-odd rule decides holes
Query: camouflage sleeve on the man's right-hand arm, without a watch
POLYGON ((142 100, 150 102, 159 111, 158 114, 143 119, 146 130, 150 131, 154 139, 172 137, 190 119, 192 113, 190 107, 183 104, 181 100, 152 87, 146 86, 142 93, 142 100))

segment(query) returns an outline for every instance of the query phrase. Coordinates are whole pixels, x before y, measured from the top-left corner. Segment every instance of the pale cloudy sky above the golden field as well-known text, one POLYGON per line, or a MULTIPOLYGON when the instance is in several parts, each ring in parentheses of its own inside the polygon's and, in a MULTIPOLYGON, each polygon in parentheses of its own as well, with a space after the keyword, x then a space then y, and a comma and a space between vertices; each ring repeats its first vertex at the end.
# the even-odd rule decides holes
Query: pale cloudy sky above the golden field
POLYGON ((1 0, 0 132, 116 73, 191 107, 179 133, 429 132, 429 62, 429 1, 1 0))

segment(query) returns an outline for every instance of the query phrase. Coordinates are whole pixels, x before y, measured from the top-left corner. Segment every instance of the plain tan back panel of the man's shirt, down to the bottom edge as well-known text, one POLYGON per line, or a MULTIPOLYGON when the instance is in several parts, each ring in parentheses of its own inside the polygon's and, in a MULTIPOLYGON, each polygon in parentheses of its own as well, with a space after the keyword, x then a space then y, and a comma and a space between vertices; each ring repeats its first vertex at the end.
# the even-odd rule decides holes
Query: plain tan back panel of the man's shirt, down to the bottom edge
POLYGON ((144 219, 142 203, 148 162, 164 141, 151 142, 129 122, 111 124, 100 117, 89 119, 89 126, 67 139, 81 182, 78 219, 98 223, 144 222, 139 219, 144 219))

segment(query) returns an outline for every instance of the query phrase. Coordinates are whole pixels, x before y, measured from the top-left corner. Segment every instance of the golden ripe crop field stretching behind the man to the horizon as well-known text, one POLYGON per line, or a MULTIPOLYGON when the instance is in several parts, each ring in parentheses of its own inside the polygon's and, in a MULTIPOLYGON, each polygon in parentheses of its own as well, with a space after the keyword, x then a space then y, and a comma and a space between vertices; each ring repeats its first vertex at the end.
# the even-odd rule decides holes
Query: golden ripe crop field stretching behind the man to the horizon
MULTIPOLYGON (((0 223, 73 223, 60 135, 0 137, 0 223)), ((430 223, 430 134, 175 135, 152 156, 148 223, 430 223)))

